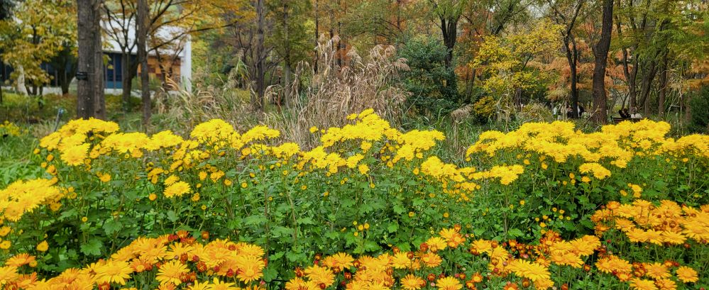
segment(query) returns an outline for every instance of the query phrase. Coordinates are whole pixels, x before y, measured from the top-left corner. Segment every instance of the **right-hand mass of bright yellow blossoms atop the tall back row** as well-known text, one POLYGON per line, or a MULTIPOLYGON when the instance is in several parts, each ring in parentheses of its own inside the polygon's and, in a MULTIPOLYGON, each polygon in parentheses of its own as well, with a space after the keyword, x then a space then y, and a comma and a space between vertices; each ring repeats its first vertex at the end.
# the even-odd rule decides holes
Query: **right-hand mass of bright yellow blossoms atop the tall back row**
MULTIPOLYGON (((524 123, 510 133, 486 131, 466 155, 485 153, 490 157, 502 152, 523 150, 558 163, 581 160, 582 173, 592 172, 597 179, 610 176, 600 162, 625 168, 636 156, 669 154, 674 156, 709 157, 709 136, 688 135, 678 140, 666 138, 669 123, 649 120, 622 122, 603 126, 600 132, 583 133, 574 130, 573 123, 524 123)), ((525 162, 526 163, 526 162, 525 162)), ((542 163, 542 168, 548 165, 542 163)))

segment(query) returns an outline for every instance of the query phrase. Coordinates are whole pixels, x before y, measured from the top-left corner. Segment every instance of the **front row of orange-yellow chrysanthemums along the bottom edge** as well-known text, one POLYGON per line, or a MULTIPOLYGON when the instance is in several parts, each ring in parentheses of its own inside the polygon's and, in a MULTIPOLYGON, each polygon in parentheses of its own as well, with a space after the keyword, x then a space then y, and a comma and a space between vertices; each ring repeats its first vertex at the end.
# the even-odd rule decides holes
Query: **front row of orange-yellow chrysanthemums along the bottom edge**
MULTIPOLYGON (((660 235, 689 235, 693 238, 682 241, 687 244, 681 247, 698 247, 700 255, 705 255, 705 233, 709 225, 687 225, 701 218, 706 221, 709 206, 697 209, 680 208, 671 201, 663 201, 659 206, 643 200, 622 205, 612 202, 594 217, 598 227, 603 228, 616 215, 654 223, 655 228, 666 227, 661 219, 674 217, 686 228, 664 228, 660 235), (601 216, 605 223, 596 218, 601 216), (654 218, 659 220, 651 222, 654 218)), ((461 230, 460 225, 444 228, 422 242, 417 250, 402 251, 394 247, 377 256, 357 258, 346 252, 317 254, 312 265, 296 267, 295 271, 285 274, 290 279, 281 287, 288 290, 327 289, 338 285, 346 289, 393 287, 407 290, 550 289, 554 286, 608 289, 627 283, 630 289, 669 290, 697 286, 699 276, 693 267, 706 269, 702 261, 692 260, 691 255, 668 259, 671 247, 677 244, 674 240, 644 241, 658 245, 656 256, 664 260, 625 260, 622 253, 613 252, 612 248, 624 244, 637 247, 639 241, 630 232, 626 233, 627 240, 610 242, 600 240, 599 236, 605 234, 603 230, 597 235, 573 240, 564 240, 559 233, 549 230, 538 241, 524 244, 517 240, 484 240, 461 230), (693 267, 680 263, 686 260, 693 267)), ((36 258, 23 253, 10 257, 4 267, 0 267, 0 284, 6 289, 28 290, 92 289, 94 286, 98 289, 194 290, 267 286, 263 271, 269 260, 263 248, 229 240, 208 242, 209 238, 207 232, 194 238, 185 231, 158 238, 138 238, 107 260, 82 269, 67 269, 50 279, 40 279, 36 272, 31 272, 37 266, 36 258)))

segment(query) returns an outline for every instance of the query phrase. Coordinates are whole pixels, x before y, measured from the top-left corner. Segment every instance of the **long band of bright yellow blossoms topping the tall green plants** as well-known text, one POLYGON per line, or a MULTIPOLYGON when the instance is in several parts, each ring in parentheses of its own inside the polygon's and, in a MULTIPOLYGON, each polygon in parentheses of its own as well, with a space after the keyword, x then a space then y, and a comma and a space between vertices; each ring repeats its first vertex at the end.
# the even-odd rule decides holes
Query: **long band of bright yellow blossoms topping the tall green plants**
MULTIPOLYGON (((348 116, 348 119, 353 123, 322 130, 321 145, 311 150, 301 150, 295 143, 269 145, 268 140, 280 136, 277 130, 255 126, 239 134, 229 123, 218 119, 195 126, 189 139, 183 139, 169 130, 152 136, 120 133, 116 123, 77 120, 43 138, 40 147, 49 152, 59 150, 62 162, 70 166, 85 166, 87 170, 92 169, 92 160, 103 155, 141 158, 148 152, 154 152, 147 156, 148 160, 143 160, 148 164, 145 167, 147 179, 153 184, 180 172, 199 174, 200 180, 204 180, 204 174, 209 174, 212 182, 217 182, 229 170, 220 169, 219 162, 205 162, 209 159, 226 162, 228 158, 238 161, 275 157, 280 161, 260 169, 288 166, 299 172, 299 176, 317 170, 336 174, 344 169, 367 175, 379 168, 376 165, 394 167, 400 164, 400 167, 414 174, 422 173, 420 177, 440 184, 444 193, 458 201, 469 201, 473 191, 484 184, 484 179, 498 179, 502 185, 512 184, 524 173, 525 166, 531 165, 529 158, 532 154, 539 155, 542 169, 549 166, 546 160, 581 160, 578 170, 586 174, 581 181, 589 182, 589 177, 599 180, 610 177, 609 166, 625 167, 635 156, 666 154, 681 157, 692 154, 706 157, 709 151, 709 136, 689 135, 678 140, 664 137, 669 131, 667 123, 627 122, 604 126, 596 133, 582 133, 568 122, 525 123, 510 133, 482 133, 478 142, 466 153, 468 157, 477 152, 493 156, 505 150, 524 150, 527 152, 522 162, 524 164, 499 164, 478 170, 448 164, 436 156, 424 156, 437 142, 444 140, 445 136, 439 131, 411 130, 402 133, 371 109, 348 116), (372 160, 381 163, 372 164, 372 160)), ((521 154, 517 156, 522 157, 521 154)), ((47 168, 50 174, 56 174, 55 165, 47 168)), ((111 180, 109 173, 96 172, 96 175, 103 182, 111 180)), ((571 179, 572 183, 576 182, 571 179)), ((229 186, 232 180, 224 179, 224 184, 229 186)), ((241 182, 241 185, 248 186, 248 183, 241 182)), ((197 184, 185 182, 165 186, 165 196, 179 197, 195 189, 197 184)))

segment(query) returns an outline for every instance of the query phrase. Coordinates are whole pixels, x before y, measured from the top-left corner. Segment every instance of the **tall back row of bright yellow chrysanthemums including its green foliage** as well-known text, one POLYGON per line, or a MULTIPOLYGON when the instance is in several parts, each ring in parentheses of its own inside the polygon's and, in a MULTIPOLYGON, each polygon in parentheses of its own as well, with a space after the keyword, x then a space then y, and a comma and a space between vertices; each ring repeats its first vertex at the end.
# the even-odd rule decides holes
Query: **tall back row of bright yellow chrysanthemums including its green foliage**
MULTIPOLYGON (((435 154, 441 132, 402 132, 371 110, 348 118, 341 128, 311 128, 321 141, 312 148, 283 143, 265 126, 238 133, 221 120, 185 137, 71 121, 40 140, 34 158, 43 176, 0 190, 0 260, 28 253, 40 276, 58 274, 138 237, 208 232, 262 247, 268 265, 260 279, 285 285, 292 269, 318 253, 413 252, 454 225, 498 242, 533 243, 550 230, 575 240, 619 230, 611 213, 594 216, 611 201, 709 203, 701 182, 709 178, 709 137, 669 138, 666 123, 625 122, 593 133, 571 123, 527 123, 483 133, 465 161, 452 163, 435 154)), ((667 231, 651 227, 627 226, 637 239, 614 245, 683 245, 699 236, 642 238, 667 231)), ((633 261, 650 255, 633 251, 633 261)))

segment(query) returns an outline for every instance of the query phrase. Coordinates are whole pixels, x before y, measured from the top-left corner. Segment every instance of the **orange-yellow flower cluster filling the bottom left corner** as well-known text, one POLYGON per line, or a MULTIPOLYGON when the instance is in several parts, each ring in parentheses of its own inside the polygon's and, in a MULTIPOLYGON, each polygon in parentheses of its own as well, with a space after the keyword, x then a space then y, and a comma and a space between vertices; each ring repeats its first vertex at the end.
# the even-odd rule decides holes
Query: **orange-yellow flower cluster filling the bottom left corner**
MULTIPOLYGON (((154 272, 159 289, 177 289, 190 283, 193 285, 190 289, 201 284, 199 289, 236 290, 263 277, 264 255, 263 249, 255 245, 229 240, 201 244, 187 232, 178 232, 158 238, 138 238, 109 259, 82 269, 67 269, 50 279, 38 279, 37 273, 18 274, 24 265, 34 267, 37 262, 30 255, 16 255, 0 267, 0 286, 25 290, 118 289, 131 281, 133 275, 154 272), (200 283, 198 277, 214 280, 200 283), (236 285, 237 281, 241 285, 236 285)), ((253 285, 256 288, 258 283, 253 285)))

